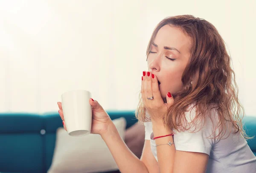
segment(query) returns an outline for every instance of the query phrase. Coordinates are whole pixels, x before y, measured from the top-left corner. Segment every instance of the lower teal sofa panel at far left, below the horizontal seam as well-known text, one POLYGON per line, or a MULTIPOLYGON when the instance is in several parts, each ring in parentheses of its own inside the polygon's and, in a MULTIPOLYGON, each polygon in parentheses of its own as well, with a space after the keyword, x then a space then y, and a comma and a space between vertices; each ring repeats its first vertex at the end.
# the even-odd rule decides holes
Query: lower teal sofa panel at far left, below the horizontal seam
POLYGON ((43 140, 40 134, 1 134, 0 171, 43 173, 43 140))

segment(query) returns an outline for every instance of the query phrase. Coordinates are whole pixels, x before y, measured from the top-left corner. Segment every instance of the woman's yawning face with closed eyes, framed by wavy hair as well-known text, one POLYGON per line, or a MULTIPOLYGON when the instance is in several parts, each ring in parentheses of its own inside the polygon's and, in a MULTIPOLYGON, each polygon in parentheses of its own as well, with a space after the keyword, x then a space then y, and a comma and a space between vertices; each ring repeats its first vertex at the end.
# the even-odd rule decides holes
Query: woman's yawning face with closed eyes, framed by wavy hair
POLYGON ((179 28, 165 25, 157 32, 148 55, 148 71, 157 76, 162 98, 183 87, 181 76, 189 60, 191 39, 179 28), (168 59, 170 58, 170 59, 168 59))

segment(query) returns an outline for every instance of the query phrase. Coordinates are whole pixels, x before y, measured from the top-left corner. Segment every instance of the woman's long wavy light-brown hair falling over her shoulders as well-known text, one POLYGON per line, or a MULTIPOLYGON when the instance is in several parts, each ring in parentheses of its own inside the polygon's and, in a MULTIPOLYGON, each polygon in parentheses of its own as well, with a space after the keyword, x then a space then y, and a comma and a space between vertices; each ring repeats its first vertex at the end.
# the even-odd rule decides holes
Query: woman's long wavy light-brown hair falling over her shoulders
MULTIPOLYGON (((191 38, 192 46, 189 61, 182 74, 183 88, 173 95, 175 102, 163 116, 164 124, 177 131, 189 130, 196 122, 204 122, 209 110, 214 109, 218 113, 215 130, 218 128, 220 132, 217 136, 214 135, 216 138, 225 135, 226 123, 230 122, 230 127, 235 128, 236 133, 240 132, 248 139, 241 121, 244 108, 238 99, 235 73, 230 67, 230 56, 217 29, 206 20, 192 15, 167 17, 154 28, 146 51, 147 57, 157 32, 165 25, 180 28, 191 38), (188 128, 185 112, 190 105, 195 108, 196 116, 191 121, 192 126, 188 128)), ((140 93, 137 119, 141 122, 150 121, 145 113, 146 108, 140 93)))

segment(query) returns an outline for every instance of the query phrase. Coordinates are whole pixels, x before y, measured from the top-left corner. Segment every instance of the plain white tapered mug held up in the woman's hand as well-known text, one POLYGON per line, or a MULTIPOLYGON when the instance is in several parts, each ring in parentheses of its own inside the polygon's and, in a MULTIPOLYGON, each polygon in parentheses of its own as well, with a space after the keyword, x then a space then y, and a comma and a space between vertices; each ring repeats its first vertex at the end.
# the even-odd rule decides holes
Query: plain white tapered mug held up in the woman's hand
POLYGON ((90 91, 86 90, 67 91, 61 95, 63 116, 70 136, 90 134, 92 124, 90 97, 90 91))

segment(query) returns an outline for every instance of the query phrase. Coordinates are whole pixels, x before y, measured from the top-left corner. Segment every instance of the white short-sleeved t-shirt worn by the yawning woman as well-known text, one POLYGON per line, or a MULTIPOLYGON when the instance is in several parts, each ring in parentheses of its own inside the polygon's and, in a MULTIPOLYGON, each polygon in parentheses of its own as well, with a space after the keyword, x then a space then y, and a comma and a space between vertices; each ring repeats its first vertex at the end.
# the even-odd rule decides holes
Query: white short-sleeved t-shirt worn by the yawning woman
MULTIPOLYGON (((149 116, 147 113, 146 115, 149 116)), ((256 173, 256 156, 240 134, 230 133, 228 137, 224 136, 224 139, 211 139, 212 129, 215 129, 213 127, 218 122, 216 115, 216 111, 211 111, 204 127, 201 130, 198 128, 198 132, 191 132, 195 128, 184 132, 174 130, 173 139, 176 150, 208 154, 206 173, 256 173), (213 123, 210 117, 213 117, 213 123)), ((193 117, 195 117, 195 108, 186 112, 188 122, 191 122, 193 117)), ((152 122, 144 122, 144 125, 145 140, 150 140, 151 151, 157 160, 152 122)))

